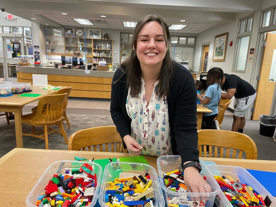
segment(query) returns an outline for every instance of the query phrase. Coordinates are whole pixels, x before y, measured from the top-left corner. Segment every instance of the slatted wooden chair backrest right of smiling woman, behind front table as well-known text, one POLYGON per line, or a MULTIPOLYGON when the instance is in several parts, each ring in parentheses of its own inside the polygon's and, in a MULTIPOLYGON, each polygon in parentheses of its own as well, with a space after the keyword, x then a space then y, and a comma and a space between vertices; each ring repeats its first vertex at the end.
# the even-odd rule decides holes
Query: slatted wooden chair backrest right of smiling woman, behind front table
POLYGON ((198 150, 200 157, 207 157, 206 150, 209 147, 209 157, 242 158, 243 152, 246 159, 257 159, 257 147, 255 142, 245 134, 233 131, 202 129, 198 130, 198 150), (212 146, 214 151, 212 152, 212 146), (225 149, 226 148, 226 152, 225 149), (202 156, 203 152, 203 156, 202 156))

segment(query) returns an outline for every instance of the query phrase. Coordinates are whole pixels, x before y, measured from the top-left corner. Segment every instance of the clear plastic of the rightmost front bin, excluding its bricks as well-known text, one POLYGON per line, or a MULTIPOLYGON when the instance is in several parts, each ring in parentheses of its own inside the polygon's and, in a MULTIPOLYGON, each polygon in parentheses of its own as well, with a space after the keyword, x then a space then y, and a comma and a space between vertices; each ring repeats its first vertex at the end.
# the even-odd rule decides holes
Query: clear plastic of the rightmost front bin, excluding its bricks
MULTIPOLYGON (((208 165, 207 168, 213 175, 230 175, 234 180, 245 181, 247 185, 251 186, 255 191, 260 193, 263 199, 268 196, 272 202, 270 204, 271 207, 276 206, 275 198, 273 198, 273 196, 246 169, 226 165, 208 165)), ((230 204, 228 200, 225 202, 230 204)))

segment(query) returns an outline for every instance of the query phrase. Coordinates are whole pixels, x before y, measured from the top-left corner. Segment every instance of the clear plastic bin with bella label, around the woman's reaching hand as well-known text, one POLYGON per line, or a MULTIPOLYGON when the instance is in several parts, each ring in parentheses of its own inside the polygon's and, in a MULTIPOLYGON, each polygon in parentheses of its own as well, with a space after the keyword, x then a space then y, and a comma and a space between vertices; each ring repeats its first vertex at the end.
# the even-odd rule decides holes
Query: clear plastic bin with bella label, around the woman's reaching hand
POLYGON ((201 175, 206 176, 207 183, 211 186, 212 192, 210 193, 182 193, 182 192, 175 192, 171 191, 166 188, 163 182, 162 172, 167 173, 172 170, 182 170, 181 167, 181 157, 179 155, 164 155, 157 158, 157 168, 159 179, 161 183, 162 190, 164 192, 164 198, 167 203, 169 204, 168 200, 179 199, 179 200, 193 200, 193 201, 205 201, 205 207, 213 206, 214 200, 216 195, 220 192, 220 187, 216 180, 214 179, 213 175, 210 173, 204 162, 200 160, 200 164, 202 167, 201 175))

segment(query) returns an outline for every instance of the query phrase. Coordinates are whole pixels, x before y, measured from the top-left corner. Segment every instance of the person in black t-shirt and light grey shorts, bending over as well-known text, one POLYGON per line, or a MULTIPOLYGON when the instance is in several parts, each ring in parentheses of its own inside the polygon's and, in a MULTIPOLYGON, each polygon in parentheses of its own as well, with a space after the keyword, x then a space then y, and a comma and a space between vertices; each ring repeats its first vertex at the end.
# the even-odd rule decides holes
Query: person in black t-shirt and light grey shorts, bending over
POLYGON ((236 75, 224 74, 222 81, 221 98, 231 99, 235 97, 232 131, 243 133, 245 114, 256 98, 256 91, 252 85, 236 75))

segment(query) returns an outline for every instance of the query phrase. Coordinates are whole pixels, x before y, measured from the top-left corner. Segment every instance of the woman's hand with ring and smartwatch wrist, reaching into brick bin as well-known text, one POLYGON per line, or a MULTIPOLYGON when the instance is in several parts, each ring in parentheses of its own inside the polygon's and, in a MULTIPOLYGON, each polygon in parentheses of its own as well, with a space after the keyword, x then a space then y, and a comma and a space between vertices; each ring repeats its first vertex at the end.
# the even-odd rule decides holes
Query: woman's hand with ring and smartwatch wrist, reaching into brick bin
POLYGON ((198 169, 194 166, 185 168, 184 182, 188 189, 188 192, 212 192, 212 188, 210 187, 210 185, 203 179, 203 177, 198 172, 198 169))

